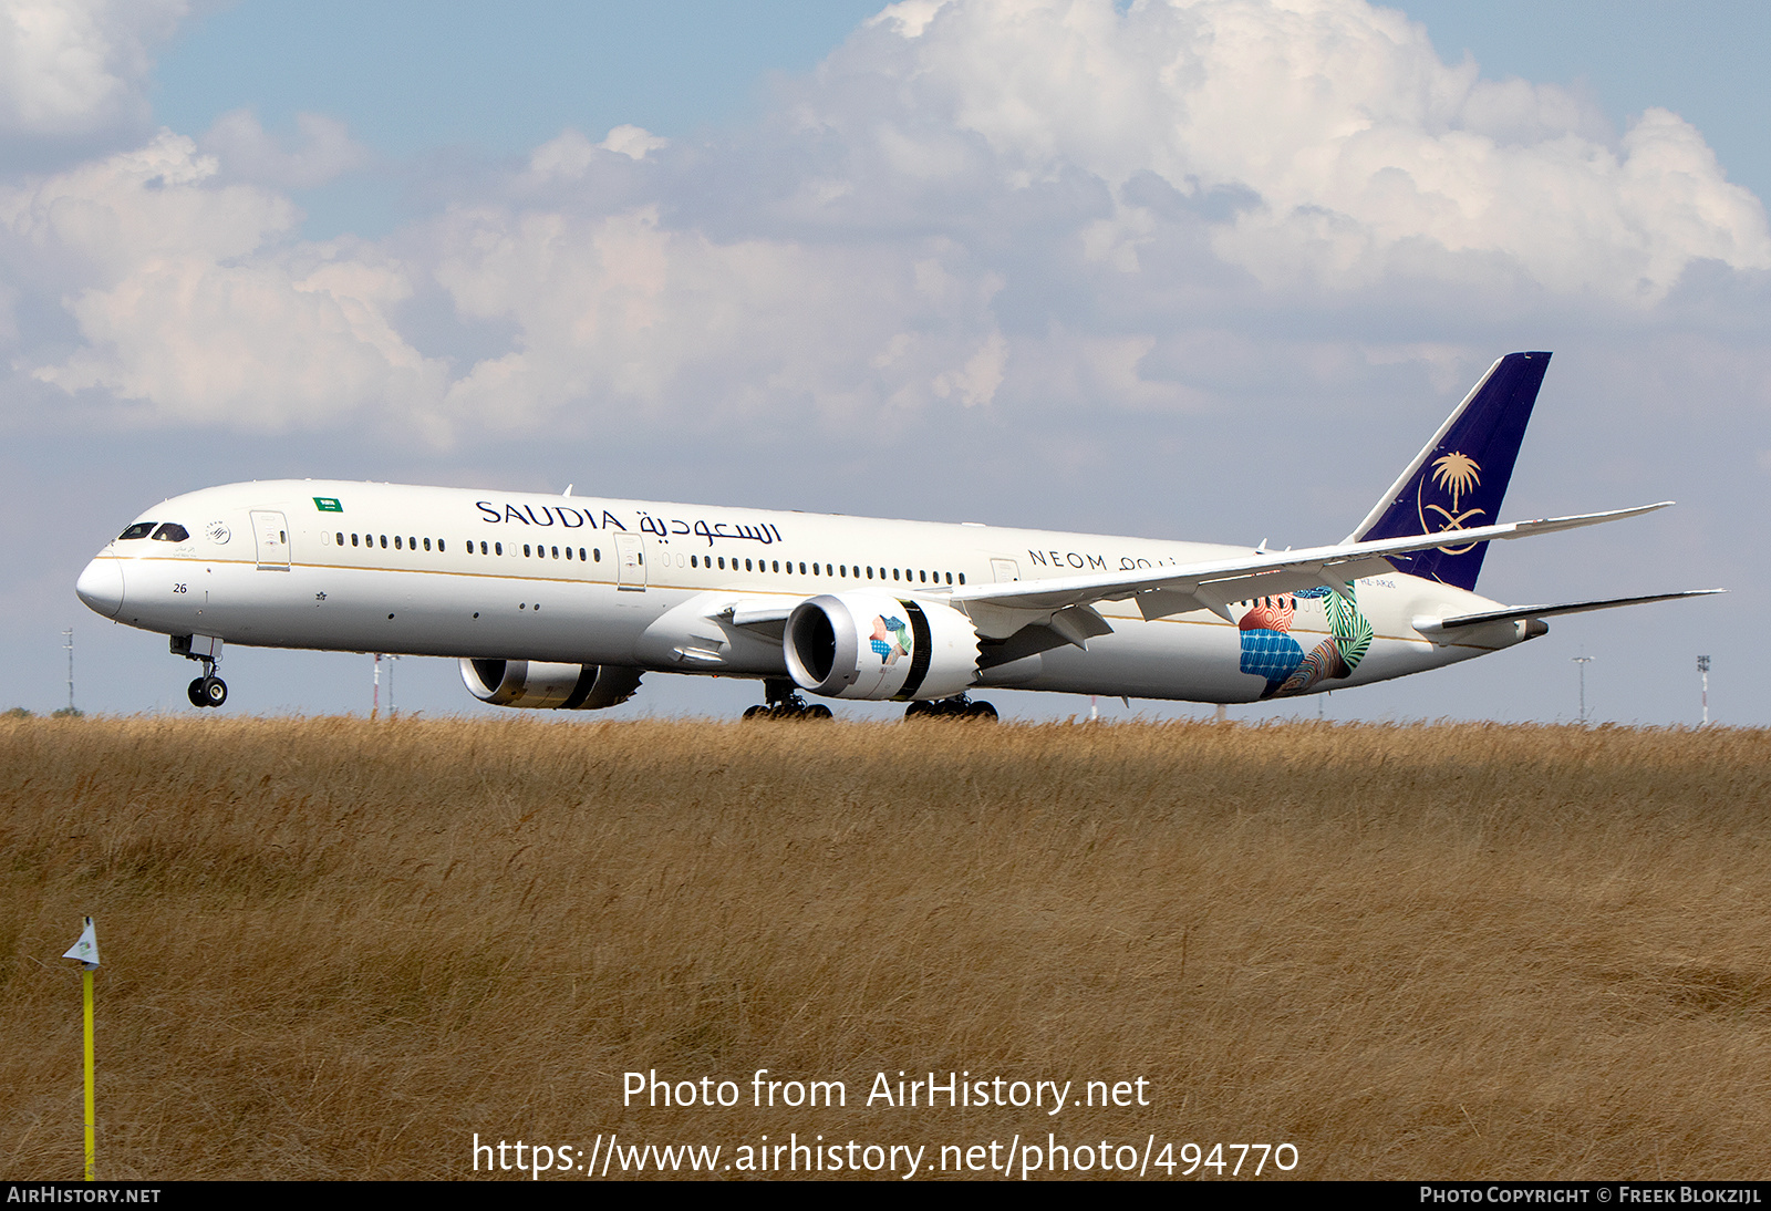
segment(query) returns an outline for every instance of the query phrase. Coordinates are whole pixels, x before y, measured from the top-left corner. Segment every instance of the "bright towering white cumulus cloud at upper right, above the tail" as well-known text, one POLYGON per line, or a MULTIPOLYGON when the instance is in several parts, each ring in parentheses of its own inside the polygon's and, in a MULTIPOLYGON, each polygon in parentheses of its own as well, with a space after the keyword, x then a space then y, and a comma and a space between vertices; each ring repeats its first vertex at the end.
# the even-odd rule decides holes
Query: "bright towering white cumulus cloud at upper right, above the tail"
POLYGON ((1612 145, 1564 89, 1447 66, 1424 27, 1358 0, 917 0, 882 18, 827 66, 896 78, 893 110, 824 115, 857 147, 940 165, 976 133, 1011 184, 1243 189, 1213 248, 1273 289, 1502 262, 1555 292, 1656 301, 1697 260, 1771 267, 1762 205, 1690 124, 1649 110, 1612 145))

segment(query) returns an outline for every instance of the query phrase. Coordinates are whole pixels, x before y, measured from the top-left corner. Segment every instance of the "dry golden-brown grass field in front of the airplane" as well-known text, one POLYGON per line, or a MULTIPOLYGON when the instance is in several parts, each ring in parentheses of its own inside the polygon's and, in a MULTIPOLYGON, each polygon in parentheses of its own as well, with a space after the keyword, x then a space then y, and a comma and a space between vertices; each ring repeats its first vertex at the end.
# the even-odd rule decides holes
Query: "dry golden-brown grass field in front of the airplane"
POLYGON ((80 1174, 89 912, 103 1177, 469 1177, 475 1133, 1771 1172, 1764 731, 25 719, 0 795, 7 1177, 80 1174), (623 1107, 646 1069, 742 1101, 623 1107), (866 1105, 962 1069, 1149 1105, 866 1105))

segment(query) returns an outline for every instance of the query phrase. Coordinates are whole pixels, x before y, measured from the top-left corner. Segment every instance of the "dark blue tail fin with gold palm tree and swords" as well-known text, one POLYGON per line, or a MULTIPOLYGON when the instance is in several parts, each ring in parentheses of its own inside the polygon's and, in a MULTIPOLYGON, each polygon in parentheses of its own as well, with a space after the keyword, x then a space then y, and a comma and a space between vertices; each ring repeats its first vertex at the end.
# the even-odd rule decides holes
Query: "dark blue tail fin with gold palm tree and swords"
MULTIPOLYGON (((1440 425, 1348 542, 1411 538, 1491 526, 1525 441, 1550 354, 1507 354, 1482 375, 1458 411, 1440 425)), ((1390 556, 1399 572, 1473 590, 1486 542, 1390 556)))

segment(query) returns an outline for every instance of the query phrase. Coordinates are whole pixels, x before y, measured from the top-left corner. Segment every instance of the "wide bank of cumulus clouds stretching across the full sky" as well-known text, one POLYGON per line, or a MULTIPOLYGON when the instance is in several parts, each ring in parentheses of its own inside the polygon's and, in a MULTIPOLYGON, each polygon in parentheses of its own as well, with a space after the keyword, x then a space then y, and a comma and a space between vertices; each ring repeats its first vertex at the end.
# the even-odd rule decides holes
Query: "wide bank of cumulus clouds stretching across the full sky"
POLYGON ((910 0, 776 96, 694 143, 567 129, 379 244, 296 237, 283 191, 363 161, 342 124, 165 133, 0 195, 0 297, 53 296, 81 342, 14 365, 166 423, 436 439, 1079 416, 1449 381, 1504 352, 1472 324, 1651 322, 1771 269, 1688 122, 1613 135, 1364 0, 910 0), (420 354, 414 299, 476 352, 420 354))

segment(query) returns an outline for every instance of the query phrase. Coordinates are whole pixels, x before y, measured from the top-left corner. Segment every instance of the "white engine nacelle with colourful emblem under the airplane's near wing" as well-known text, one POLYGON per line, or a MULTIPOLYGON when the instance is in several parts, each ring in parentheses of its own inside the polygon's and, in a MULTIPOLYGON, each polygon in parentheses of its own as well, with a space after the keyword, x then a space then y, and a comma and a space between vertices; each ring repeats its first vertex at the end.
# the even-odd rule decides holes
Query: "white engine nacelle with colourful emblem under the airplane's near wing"
POLYGON ((972 620, 939 602, 827 593, 786 620, 786 671, 829 698, 951 698, 978 680, 972 620))

